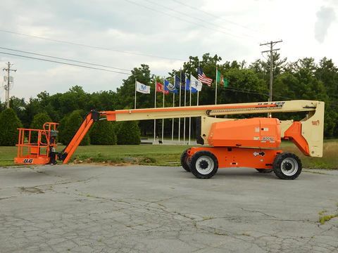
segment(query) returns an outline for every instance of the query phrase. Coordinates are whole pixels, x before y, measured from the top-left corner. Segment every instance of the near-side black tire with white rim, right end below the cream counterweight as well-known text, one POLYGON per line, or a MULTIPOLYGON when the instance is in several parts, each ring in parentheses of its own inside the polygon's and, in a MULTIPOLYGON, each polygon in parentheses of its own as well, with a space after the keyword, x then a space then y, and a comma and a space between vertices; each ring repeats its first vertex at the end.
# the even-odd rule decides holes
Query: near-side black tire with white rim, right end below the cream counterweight
POLYGON ((299 174, 301 174, 302 164, 299 157, 293 153, 282 153, 275 157, 273 161, 273 172, 280 179, 294 180, 299 174), (284 162, 284 164, 282 164, 284 162), (290 169, 287 168, 291 166, 290 169), (294 169, 294 172, 290 171, 287 174, 287 171, 294 169))

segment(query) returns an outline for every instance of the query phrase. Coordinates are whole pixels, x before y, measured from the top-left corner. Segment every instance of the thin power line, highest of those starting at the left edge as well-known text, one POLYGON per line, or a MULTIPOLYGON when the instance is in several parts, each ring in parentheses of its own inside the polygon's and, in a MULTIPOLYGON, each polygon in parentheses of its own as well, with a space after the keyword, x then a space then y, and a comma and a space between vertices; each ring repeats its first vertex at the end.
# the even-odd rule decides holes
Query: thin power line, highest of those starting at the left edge
POLYGON ((15 35, 20 35, 20 36, 25 36, 25 37, 32 37, 32 38, 35 38, 35 39, 44 39, 46 41, 54 41, 54 42, 63 43, 63 44, 83 46, 83 47, 87 47, 87 48, 94 48, 94 49, 100 49, 100 50, 106 50, 106 51, 113 51, 113 52, 116 52, 116 53, 125 53, 125 54, 134 55, 134 56, 146 56, 146 57, 153 57, 153 58, 161 58, 161 59, 165 59, 165 60, 184 61, 184 60, 179 59, 179 58, 169 58, 169 57, 165 57, 165 56, 154 56, 154 55, 149 55, 149 54, 146 54, 146 53, 133 53, 133 52, 129 52, 129 51, 116 50, 116 49, 113 49, 113 48, 105 48, 105 47, 102 47, 102 46, 91 46, 91 45, 72 42, 72 41, 64 41, 64 40, 61 40, 61 39, 50 39, 50 38, 46 38, 46 37, 30 35, 30 34, 23 34, 23 33, 20 33, 20 32, 13 32, 13 31, 2 30, 2 29, 0 29, 0 32, 6 32, 6 33, 9 33, 9 34, 15 34, 15 35))

